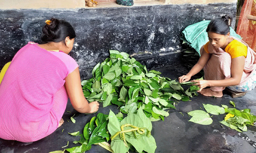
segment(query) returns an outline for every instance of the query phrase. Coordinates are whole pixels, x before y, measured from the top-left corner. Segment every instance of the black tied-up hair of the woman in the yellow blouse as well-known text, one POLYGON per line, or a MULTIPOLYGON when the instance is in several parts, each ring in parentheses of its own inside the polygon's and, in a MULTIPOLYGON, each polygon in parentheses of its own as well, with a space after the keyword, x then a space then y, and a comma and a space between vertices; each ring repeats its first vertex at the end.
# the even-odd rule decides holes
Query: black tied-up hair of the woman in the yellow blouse
POLYGON ((206 32, 214 32, 214 33, 226 35, 230 31, 229 27, 231 26, 231 22, 232 22, 232 18, 227 15, 218 19, 213 19, 208 24, 206 32))

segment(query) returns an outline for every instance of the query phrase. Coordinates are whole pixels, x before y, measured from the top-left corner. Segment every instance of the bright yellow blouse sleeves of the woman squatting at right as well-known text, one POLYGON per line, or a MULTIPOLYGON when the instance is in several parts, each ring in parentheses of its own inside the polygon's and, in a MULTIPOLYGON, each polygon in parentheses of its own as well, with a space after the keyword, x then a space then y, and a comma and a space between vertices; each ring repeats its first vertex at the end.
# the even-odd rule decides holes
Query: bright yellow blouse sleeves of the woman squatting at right
MULTIPOLYGON (((208 41, 203 47, 205 52, 207 52, 207 53, 209 53, 209 51, 208 51, 209 43, 210 42, 208 41)), ((229 53, 231 58, 236 58, 236 57, 239 57, 239 56, 246 57, 247 47, 238 40, 232 40, 228 44, 228 46, 225 48, 225 52, 229 53)))

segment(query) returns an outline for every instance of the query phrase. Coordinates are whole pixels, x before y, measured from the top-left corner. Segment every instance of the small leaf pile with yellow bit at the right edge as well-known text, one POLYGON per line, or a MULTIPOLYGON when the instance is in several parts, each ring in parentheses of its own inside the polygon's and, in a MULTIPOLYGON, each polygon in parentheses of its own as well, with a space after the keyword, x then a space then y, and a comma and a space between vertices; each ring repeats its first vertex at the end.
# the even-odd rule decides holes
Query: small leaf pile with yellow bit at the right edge
POLYGON ((227 120, 224 119, 221 121, 222 124, 239 132, 247 131, 247 126, 255 126, 256 116, 251 114, 251 109, 242 109, 239 111, 236 108, 228 108, 226 105, 224 107, 225 113, 230 113, 234 117, 228 118, 227 120))

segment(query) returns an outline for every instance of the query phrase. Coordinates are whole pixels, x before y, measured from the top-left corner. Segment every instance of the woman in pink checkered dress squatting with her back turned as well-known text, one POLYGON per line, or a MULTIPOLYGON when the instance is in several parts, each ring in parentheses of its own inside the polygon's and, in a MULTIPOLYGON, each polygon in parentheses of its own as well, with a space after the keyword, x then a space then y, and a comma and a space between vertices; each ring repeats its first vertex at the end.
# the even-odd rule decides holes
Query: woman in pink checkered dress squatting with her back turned
POLYGON ((0 84, 0 138, 37 141, 63 124, 68 98, 80 113, 98 102, 85 99, 75 60, 68 55, 75 31, 64 20, 46 20, 43 44, 29 42, 13 57, 0 84))

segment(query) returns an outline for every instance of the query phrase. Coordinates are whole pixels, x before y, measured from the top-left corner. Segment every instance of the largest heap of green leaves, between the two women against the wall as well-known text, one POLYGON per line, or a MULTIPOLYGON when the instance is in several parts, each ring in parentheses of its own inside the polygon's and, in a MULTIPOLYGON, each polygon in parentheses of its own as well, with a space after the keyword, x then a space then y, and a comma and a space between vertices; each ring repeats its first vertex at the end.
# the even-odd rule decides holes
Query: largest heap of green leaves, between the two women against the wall
POLYGON ((188 101, 189 89, 184 91, 175 80, 161 77, 160 72, 147 71, 129 54, 110 50, 110 58, 98 63, 92 71, 93 78, 81 82, 88 101, 103 102, 103 107, 116 104, 122 113, 134 113, 139 107, 151 121, 164 120, 168 108, 175 108, 177 100, 188 101))

